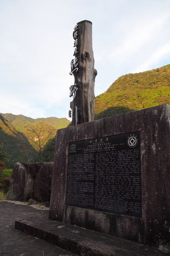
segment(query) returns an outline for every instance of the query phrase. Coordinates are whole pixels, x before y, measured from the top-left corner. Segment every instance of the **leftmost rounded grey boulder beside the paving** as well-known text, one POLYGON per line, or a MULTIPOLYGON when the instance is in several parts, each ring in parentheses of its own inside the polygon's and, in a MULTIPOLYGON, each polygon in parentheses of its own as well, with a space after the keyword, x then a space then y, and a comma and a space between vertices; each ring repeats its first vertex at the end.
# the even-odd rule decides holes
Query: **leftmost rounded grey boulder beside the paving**
POLYGON ((34 177, 23 164, 16 163, 13 167, 6 200, 28 201, 33 196, 33 184, 34 177))

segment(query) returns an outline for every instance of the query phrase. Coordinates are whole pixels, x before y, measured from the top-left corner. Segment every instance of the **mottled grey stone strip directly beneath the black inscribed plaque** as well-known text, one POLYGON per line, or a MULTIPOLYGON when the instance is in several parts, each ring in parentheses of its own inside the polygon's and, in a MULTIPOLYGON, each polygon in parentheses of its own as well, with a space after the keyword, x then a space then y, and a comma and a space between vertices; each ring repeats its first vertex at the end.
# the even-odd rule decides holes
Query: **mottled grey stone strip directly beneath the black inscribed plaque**
POLYGON ((67 206, 65 222, 142 243, 143 222, 141 218, 67 206))

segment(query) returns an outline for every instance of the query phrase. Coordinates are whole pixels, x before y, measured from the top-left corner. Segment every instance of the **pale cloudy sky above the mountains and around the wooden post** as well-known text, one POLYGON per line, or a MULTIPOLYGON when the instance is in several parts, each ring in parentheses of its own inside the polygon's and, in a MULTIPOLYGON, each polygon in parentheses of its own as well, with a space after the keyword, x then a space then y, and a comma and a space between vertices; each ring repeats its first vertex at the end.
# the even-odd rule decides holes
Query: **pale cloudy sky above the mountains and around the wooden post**
POLYGON ((0 112, 67 117, 73 28, 93 25, 95 95, 170 64, 170 0, 0 0, 0 112))

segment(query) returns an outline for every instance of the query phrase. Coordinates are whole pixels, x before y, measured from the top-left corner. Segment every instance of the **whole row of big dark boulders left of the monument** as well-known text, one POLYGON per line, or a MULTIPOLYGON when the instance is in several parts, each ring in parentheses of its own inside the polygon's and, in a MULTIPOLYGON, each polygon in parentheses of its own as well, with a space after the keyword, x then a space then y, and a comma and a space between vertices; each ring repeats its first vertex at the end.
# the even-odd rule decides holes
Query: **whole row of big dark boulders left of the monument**
POLYGON ((16 163, 12 170, 7 200, 50 201, 53 162, 16 163))

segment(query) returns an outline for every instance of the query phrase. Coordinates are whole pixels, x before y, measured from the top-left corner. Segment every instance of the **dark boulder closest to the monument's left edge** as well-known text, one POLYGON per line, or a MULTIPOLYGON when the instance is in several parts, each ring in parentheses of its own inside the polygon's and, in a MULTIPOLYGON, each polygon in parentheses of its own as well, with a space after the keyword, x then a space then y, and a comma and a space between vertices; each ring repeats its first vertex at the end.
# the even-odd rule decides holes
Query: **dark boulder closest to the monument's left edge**
POLYGON ((39 202, 49 202, 51 195, 51 180, 53 162, 44 163, 34 180, 34 198, 39 202))

